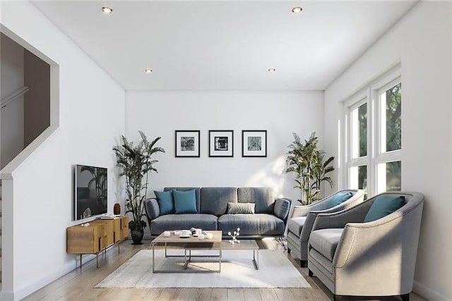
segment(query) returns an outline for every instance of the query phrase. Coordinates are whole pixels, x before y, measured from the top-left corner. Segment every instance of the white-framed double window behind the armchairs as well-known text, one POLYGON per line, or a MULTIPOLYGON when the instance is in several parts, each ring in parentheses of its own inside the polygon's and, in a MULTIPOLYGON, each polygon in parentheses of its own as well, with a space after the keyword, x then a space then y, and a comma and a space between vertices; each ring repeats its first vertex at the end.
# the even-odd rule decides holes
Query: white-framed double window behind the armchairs
POLYGON ((400 66, 345 102, 347 186, 369 195, 402 190, 400 66))

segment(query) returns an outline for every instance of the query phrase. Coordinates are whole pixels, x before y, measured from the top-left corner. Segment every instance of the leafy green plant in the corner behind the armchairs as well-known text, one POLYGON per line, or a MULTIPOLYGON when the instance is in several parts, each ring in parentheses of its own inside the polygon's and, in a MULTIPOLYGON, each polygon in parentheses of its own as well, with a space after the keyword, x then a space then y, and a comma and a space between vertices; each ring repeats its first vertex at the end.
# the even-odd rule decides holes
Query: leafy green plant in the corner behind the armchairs
POLYGON ((312 133, 309 140, 302 140, 297 133, 293 133, 295 141, 288 147, 287 152, 287 169, 286 173, 296 173, 294 188, 299 188, 302 192, 302 204, 307 205, 311 202, 318 201, 321 197, 321 183, 326 181, 333 187, 333 180, 326 176, 334 170, 333 166, 329 166, 334 160, 334 156, 325 160, 326 152, 317 148, 319 138, 316 133, 312 133))

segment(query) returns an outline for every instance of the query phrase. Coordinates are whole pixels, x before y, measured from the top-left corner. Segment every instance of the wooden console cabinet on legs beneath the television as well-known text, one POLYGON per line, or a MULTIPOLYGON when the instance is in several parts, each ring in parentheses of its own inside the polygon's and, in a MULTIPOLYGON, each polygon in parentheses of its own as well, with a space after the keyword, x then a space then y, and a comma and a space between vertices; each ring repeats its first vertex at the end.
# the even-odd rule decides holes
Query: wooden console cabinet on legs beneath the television
POLYGON ((82 255, 95 254, 96 265, 99 267, 98 255, 107 247, 118 245, 129 235, 129 218, 120 216, 116 219, 96 219, 90 221, 90 226, 71 226, 66 229, 66 251, 69 254, 80 254, 80 269, 82 255))

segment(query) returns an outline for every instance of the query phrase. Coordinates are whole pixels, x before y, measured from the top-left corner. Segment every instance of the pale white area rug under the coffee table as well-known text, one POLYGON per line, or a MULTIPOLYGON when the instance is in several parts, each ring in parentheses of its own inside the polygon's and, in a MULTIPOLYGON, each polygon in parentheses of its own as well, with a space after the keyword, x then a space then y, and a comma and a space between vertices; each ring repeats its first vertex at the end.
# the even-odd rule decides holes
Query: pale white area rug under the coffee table
MULTIPOLYGON (((183 258, 165 259, 164 250, 155 250, 157 269, 182 269, 183 258)), ((182 254, 168 251, 168 254, 182 254)), ((199 254, 192 252, 192 254, 199 254)), ((203 254, 206 254, 204 252, 203 254)), ((218 254, 218 252, 216 253, 218 254)), ((251 262, 251 250, 224 250, 221 273, 153 274, 152 251, 141 250, 109 274, 96 288, 311 288, 280 251, 259 250, 259 269, 251 262)), ((198 257, 189 269, 218 270, 218 259, 198 257)))

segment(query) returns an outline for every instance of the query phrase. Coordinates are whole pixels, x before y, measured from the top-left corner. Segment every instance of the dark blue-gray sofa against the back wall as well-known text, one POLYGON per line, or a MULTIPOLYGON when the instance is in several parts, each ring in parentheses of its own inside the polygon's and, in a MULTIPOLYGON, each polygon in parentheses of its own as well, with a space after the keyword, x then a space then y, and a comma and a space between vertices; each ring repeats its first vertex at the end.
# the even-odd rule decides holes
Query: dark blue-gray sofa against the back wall
POLYGON ((196 210, 191 214, 160 215, 156 198, 145 200, 145 213, 152 238, 166 230, 202 228, 228 231, 240 228, 240 238, 283 237, 289 215, 290 199, 273 197, 271 188, 165 188, 196 192, 196 210), (228 203, 254 203, 254 214, 227 214, 228 203))

